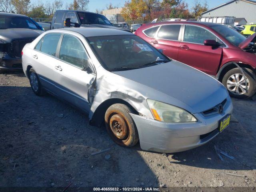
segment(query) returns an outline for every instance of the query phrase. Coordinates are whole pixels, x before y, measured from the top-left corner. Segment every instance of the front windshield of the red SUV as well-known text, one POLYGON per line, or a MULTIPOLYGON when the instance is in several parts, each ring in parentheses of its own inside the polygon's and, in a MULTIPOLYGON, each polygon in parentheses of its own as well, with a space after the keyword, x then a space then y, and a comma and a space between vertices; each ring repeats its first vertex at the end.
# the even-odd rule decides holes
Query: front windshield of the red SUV
POLYGON ((232 43, 235 46, 239 46, 246 37, 240 34, 239 32, 235 31, 232 28, 229 28, 225 25, 215 25, 211 27, 212 29, 216 30, 219 34, 221 34, 226 40, 232 43))

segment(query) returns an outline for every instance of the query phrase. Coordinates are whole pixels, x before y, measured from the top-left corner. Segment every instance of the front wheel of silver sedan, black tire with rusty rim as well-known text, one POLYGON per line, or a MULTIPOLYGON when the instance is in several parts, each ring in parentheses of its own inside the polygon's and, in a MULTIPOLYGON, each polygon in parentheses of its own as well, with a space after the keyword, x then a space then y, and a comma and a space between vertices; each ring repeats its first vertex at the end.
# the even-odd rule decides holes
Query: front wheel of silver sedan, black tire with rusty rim
POLYGON ((105 113, 108 134, 123 147, 132 147, 139 140, 138 130, 130 113, 134 111, 124 104, 113 104, 105 113))

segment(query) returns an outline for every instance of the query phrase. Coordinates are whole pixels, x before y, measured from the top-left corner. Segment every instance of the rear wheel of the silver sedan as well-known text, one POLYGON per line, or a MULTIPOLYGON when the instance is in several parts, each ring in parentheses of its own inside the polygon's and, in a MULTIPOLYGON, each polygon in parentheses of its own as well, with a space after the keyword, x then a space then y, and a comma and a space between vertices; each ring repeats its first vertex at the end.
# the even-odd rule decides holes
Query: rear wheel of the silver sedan
POLYGON ((29 70, 29 82, 34 94, 36 94, 37 96, 44 95, 44 90, 39 81, 38 75, 33 68, 29 70))

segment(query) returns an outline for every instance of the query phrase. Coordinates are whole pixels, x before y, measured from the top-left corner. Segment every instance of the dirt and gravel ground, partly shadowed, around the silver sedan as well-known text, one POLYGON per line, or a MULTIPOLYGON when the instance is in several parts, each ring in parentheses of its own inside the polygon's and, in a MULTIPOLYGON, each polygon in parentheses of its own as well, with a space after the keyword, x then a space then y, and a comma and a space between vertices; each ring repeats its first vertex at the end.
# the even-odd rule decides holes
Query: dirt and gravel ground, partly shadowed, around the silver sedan
POLYGON ((256 186, 256 101, 232 100, 231 125, 214 140, 160 154, 117 146, 86 114, 34 95, 22 72, 0 74, 0 186, 256 186))

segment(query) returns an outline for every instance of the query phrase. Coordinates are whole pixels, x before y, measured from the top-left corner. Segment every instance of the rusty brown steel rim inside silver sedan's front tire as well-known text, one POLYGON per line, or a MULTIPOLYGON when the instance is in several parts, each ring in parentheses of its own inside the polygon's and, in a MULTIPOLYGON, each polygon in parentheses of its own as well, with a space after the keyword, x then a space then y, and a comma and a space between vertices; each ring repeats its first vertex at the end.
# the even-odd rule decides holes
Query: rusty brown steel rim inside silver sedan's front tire
POLYGON ((120 114, 114 114, 110 118, 110 130, 119 140, 125 140, 129 135, 129 127, 124 117, 120 114))

